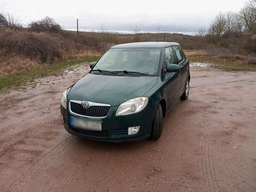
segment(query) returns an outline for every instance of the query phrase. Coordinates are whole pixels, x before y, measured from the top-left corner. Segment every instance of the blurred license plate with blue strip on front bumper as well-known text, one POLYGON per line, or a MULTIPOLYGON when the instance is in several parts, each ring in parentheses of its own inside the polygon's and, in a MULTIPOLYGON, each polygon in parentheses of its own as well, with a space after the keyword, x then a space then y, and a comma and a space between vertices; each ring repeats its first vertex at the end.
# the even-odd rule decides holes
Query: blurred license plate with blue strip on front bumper
POLYGON ((76 118, 70 116, 70 125, 72 127, 77 127, 80 129, 92 130, 92 131, 101 131, 101 122, 100 120, 88 120, 83 118, 76 118))

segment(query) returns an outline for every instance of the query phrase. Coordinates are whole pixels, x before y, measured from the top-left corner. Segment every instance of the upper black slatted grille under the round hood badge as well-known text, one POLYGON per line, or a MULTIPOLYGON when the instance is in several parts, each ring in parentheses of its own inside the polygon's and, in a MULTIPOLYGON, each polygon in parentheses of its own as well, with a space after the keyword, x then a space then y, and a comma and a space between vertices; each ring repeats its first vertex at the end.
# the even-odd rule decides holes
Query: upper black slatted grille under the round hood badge
POLYGON ((73 113, 83 116, 107 116, 110 109, 109 106, 92 106, 89 109, 84 109, 81 104, 70 102, 70 109, 73 113))

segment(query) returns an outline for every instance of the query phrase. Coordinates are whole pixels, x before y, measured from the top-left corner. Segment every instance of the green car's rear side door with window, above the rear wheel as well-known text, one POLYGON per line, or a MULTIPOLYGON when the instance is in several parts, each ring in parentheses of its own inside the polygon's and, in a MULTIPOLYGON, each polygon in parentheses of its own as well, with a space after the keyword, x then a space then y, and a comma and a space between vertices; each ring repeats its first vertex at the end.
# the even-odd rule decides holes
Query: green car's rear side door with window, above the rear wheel
MULTIPOLYGON (((184 92, 185 83, 186 83, 187 78, 188 78, 189 62, 185 58, 184 52, 182 51, 182 49, 180 48, 179 45, 173 46, 173 51, 175 53, 177 63, 180 66, 180 89, 179 89, 179 93, 181 95, 184 92)), ((179 97, 180 97, 180 95, 179 95, 179 97)))

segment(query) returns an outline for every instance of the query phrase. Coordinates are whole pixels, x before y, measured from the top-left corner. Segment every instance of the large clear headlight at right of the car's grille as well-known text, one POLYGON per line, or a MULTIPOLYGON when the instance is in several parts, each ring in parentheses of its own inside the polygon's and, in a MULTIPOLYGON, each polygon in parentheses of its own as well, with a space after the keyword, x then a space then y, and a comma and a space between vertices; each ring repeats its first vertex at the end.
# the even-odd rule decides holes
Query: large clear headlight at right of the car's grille
POLYGON ((137 97, 120 104, 116 116, 130 115, 142 111, 148 104, 148 97, 137 97))

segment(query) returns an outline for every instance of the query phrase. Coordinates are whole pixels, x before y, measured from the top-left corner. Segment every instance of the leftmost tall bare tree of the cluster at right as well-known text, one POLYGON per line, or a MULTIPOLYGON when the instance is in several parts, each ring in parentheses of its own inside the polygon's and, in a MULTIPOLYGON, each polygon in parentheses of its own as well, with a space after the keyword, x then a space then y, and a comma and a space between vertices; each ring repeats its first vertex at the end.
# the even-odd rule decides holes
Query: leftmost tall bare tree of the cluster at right
POLYGON ((216 36, 217 40, 220 40, 221 35, 223 35, 226 26, 226 18, 223 13, 219 13, 215 20, 211 23, 209 28, 209 34, 216 36))

